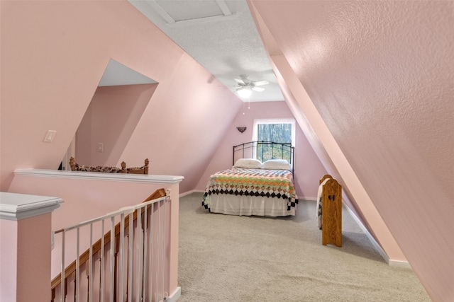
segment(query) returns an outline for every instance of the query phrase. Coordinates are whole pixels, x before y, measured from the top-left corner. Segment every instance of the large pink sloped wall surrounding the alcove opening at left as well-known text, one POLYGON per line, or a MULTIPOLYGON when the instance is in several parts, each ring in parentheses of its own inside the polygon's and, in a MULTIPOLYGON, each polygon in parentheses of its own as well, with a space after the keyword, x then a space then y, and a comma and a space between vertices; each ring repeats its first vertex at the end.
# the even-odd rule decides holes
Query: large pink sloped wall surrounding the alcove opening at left
POLYGON ((159 83, 114 157, 150 158, 150 173, 184 175, 182 192, 195 187, 242 104, 236 95, 127 1, 0 5, 1 190, 16 168, 57 169, 110 59, 159 83), (50 129, 55 139, 44 143, 50 129))

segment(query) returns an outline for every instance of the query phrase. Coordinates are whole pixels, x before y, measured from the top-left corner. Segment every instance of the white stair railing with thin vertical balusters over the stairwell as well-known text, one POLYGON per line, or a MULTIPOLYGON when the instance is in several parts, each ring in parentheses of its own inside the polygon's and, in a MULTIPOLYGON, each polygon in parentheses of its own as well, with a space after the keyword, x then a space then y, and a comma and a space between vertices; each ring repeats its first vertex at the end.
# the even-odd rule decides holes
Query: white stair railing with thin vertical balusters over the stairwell
POLYGON ((61 273, 52 280, 51 301, 165 301, 167 202, 168 192, 166 197, 55 231, 61 273), (110 231, 105 233, 105 228, 110 231), (93 243, 96 237, 101 239, 93 243), (81 245, 89 247, 82 255, 81 245), (68 259, 75 260, 67 265, 68 259))

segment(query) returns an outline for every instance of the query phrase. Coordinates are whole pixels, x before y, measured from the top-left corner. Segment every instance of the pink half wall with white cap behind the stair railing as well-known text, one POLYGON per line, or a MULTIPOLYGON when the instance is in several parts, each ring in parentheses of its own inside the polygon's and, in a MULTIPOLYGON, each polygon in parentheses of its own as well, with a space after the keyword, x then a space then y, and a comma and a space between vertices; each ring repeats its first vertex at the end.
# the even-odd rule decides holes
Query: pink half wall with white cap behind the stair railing
MULTIPOLYGON (((71 173, 71 172, 69 172, 71 173)), ((74 172, 73 172, 74 173, 74 172)), ((80 173, 79 173, 80 174, 80 173)), ((82 173, 83 174, 83 173, 82 173)), ((107 174, 107 173, 106 173, 107 174)), ((132 206, 143 202, 150 194, 161 187, 171 190, 172 202, 170 209, 167 209, 167 219, 172 221, 167 236, 170 238, 170 245, 167 252, 170 257, 170 291, 177 288, 178 273, 178 213, 179 213, 179 185, 155 184, 150 182, 118 182, 116 180, 94 180, 74 179, 74 177, 60 177, 55 175, 48 177, 33 177, 28 175, 16 175, 11 182, 10 192, 21 192, 22 194, 36 194, 42 196, 57 196, 63 199, 61 207, 52 213, 52 231, 72 226, 81 221, 94 219, 103 216, 122 207, 132 206)), ((50 230, 49 230, 50 232, 50 230)), ((100 236, 94 236, 97 240, 100 236)), ((50 237, 49 237, 50 238, 50 237)), ((49 239, 50 245, 50 239, 49 239)), ((60 263, 57 248, 52 250, 52 278, 60 273, 60 263)), ((89 247, 89 238, 81 239, 83 251, 89 247)), ((69 250, 67 259, 74 260, 75 250, 69 250)), ((50 280, 49 277, 48 280, 50 280)), ((48 284, 50 286, 50 284, 48 284)))

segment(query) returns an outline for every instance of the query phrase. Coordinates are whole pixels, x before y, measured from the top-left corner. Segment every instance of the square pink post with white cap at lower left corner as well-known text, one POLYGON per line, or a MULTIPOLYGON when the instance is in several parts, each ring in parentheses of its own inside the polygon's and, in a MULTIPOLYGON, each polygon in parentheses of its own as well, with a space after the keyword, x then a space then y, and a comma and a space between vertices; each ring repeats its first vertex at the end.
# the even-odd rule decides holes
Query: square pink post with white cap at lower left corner
POLYGON ((50 301, 51 214, 61 202, 0 192, 0 301, 50 301))

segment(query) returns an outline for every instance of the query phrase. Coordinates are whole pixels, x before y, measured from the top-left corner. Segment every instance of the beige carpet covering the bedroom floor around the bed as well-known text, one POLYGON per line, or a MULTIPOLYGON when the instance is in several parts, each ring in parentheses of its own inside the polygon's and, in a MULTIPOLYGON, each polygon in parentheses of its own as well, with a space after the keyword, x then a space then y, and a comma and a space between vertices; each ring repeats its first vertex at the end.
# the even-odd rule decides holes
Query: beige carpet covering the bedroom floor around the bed
POLYGON ((321 244, 315 202, 284 218, 228 216, 179 200, 181 302, 431 301, 411 269, 390 267, 343 210, 343 247, 321 244))

